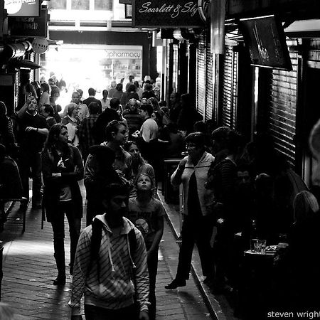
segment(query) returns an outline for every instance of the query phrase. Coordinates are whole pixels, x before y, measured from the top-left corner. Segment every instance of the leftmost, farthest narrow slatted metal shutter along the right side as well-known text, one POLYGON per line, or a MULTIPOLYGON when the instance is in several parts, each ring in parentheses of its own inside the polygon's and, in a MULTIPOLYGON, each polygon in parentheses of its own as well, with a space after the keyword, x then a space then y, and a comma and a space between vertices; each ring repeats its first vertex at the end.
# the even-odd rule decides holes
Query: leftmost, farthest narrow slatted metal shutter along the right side
POLYGON ((198 43, 197 49, 197 110, 203 116, 206 108, 206 43, 204 38, 198 43))

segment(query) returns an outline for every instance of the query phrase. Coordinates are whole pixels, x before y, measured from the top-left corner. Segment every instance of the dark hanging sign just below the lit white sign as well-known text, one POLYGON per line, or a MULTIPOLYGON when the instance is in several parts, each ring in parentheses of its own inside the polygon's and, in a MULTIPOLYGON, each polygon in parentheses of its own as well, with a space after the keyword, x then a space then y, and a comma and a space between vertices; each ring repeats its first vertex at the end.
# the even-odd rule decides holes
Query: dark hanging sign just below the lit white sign
POLYGON ((47 10, 42 9, 40 16, 9 17, 11 36, 47 37, 47 10))

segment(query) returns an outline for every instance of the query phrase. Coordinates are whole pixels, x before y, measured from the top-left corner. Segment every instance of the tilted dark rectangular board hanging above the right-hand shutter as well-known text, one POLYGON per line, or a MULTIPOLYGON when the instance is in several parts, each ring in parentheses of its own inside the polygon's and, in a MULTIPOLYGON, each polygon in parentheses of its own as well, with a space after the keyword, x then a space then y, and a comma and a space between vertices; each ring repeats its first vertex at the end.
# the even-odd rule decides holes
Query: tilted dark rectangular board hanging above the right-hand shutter
POLYGON ((292 70, 282 23, 275 16, 242 19, 239 28, 252 65, 292 70))

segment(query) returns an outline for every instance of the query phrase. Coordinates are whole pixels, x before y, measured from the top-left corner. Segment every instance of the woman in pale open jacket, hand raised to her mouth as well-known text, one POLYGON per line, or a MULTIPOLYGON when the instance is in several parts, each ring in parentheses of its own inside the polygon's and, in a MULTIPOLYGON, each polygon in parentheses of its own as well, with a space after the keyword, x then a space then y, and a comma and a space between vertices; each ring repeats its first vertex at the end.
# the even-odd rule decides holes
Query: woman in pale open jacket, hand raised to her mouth
POLYGON ((165 286, 166 289, 184 287, 189 278, 193 247, 196 243, 201 260, 203 283, 214 279, 213 255, 210 237, 213 225, 208 206, 213 200, 213 192, 207 191, 208 170, 214 161, 212 154, 205 151, 205 137, 201 132, 193 132, 186 137, 188 156, 185 156, 171 176, 174 186, 183 185, 183 225, 182 242, 178 257, 176 278, 165 286))

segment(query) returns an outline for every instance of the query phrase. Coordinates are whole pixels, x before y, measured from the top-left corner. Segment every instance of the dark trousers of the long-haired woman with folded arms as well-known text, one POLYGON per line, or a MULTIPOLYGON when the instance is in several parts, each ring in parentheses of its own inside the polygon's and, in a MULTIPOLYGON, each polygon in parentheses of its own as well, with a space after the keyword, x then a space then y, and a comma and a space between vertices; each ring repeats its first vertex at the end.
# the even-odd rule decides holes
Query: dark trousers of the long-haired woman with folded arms
POLYGON ((69 224, 71 270, 73 270, 73 262, 75 262, 75 250, 77 249, 80 235, 81 218, 76 216, 73 207, 73 201, 61 202, 58 206, 57 212, 51 218, 53 247, 55 251, 54 255, 59 274, 65 273, 65 215, 68 218, 69 224))

